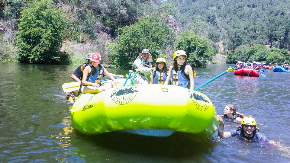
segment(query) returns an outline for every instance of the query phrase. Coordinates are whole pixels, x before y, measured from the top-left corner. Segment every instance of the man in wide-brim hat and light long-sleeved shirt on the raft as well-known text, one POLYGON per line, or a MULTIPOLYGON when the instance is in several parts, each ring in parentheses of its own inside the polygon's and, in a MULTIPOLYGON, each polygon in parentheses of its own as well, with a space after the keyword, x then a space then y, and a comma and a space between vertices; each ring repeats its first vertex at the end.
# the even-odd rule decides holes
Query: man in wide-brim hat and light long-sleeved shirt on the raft
MULTIPOLYGON (((152 70, 155 68, 152 68, 151 63, 152 62, 152 56, 149 53, 149 49, 143 49, 142 52, 139 54, 137 59, 134 61, 132 65, 132 70, 135 71, 135 69, 139 69, 138 73, 136 74, 133 83, 134 84, 148 84, 150 81, 147 76, 152 75, 152 70)), ((133 78, 134 73, 131 74, 131 78, 133 78)))

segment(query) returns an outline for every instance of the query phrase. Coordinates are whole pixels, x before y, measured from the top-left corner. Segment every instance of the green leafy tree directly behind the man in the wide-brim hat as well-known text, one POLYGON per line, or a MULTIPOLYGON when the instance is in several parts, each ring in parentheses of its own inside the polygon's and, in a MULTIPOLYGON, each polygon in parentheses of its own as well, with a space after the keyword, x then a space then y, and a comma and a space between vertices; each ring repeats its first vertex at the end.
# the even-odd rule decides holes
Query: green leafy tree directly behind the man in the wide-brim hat
POLYGON ((108 45, 111 67, 118 69, 131 68, 143 48, 148 48, 153 60, 156 59, 165 43, 170 44, 170 38, 174 38, 169 26, 160 21, 157 14, 140 17, 138 22, 122 27, 119 31, 121 34, 117 42, 108 45))

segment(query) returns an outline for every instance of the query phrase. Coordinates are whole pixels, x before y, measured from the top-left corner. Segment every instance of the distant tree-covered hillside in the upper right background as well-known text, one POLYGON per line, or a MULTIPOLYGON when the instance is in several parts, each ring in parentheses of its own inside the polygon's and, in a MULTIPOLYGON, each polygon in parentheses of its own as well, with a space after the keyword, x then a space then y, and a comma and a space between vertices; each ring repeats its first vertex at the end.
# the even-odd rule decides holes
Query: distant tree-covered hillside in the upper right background
POLYGON ((171 0, 184 29, 224 41, 226 50, 246 44, 290 49, 287 0, 171 0))

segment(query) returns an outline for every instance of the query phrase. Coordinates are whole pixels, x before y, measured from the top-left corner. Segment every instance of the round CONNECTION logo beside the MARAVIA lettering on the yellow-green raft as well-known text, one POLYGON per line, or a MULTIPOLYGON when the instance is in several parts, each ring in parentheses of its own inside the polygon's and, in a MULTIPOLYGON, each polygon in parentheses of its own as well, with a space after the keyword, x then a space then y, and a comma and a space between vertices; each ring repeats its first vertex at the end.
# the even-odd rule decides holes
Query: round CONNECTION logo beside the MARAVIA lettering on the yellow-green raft
POLYGON ((138 85, 128 85, 112 91, 112 100, 119 105, 131 102, 138 92, 138 85))

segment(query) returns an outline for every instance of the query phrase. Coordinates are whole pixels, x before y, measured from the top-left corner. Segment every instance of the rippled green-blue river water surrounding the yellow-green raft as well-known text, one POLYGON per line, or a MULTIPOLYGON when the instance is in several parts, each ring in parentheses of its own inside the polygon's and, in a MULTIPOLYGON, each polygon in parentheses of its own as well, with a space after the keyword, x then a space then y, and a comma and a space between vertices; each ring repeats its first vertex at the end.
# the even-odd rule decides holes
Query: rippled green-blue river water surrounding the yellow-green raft
MULTIPOLYGON (((195 87, 229 65, 196 68, 195 87)), ((270 146, 218 137, 192 140, 124 133, 85 136, 71 126, 61 85, 72 82, 77 66, 0 63, 0 162, 290 162, 290 73, 265 70, 267 77, 228 72, 198 91, 207 95, 218 115, 226 104, 253 116, 261 133, 282 145, 270 146)), ((126 74, 127 70, 108 69, 126 74)), ((152 92, 153 93, 153 92, 152 92)), ((225 131, 238 123, 225 122, 225 131)))

